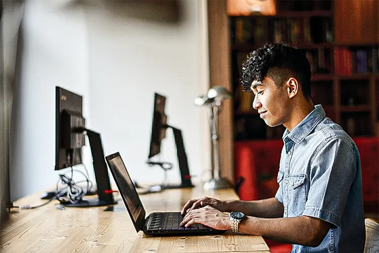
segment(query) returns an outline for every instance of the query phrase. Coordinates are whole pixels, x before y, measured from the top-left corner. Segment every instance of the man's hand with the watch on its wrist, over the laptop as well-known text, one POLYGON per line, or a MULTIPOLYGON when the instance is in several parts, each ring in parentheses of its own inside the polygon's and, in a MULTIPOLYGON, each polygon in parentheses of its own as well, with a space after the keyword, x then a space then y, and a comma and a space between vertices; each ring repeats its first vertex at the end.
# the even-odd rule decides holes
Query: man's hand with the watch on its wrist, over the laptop
POLYGON ((183 221, 180 223, 180 226, 185 225, 185 227, 187 227, 195 223, 203 224, 218 230, 230 229, 229 216, 209 205, 199 209, 190 210, 185 215, 183 221))

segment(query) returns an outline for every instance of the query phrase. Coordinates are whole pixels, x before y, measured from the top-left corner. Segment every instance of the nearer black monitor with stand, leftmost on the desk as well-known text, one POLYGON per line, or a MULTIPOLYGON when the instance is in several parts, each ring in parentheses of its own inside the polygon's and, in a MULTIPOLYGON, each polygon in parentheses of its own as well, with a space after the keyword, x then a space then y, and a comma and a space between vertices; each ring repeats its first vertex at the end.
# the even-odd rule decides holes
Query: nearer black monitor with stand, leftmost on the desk
POLYGON ((111 205, 116 202, 112 194, 108 167, 104 158, 103 144, 99 133, 85 128, 82 115, 82 96, 56 87, 56 162, 55 170, 62 170, 82 163, 82 147, 88 137, 93 160, 93 170, 99 198, 81 199, 78 202, 62 203, 72 207, 111 205))

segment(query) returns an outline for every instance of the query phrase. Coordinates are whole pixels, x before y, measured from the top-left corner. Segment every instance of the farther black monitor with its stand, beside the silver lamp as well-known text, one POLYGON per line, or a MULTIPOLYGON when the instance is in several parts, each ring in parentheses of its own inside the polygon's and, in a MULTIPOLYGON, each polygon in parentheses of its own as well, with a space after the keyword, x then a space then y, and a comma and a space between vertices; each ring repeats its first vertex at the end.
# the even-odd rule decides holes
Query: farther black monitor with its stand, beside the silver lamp
POLYGON ((162 140, 166 137, 166 130, 168 128, 172 129, 173 134, 174 134, 175 144, 176 144, 176 154, 177 154, 178 163, 179 163, 181 183, 179 185, 167 184, 164 186, 164 188, 193 187, 193 184, 191 182, 191 176, 189 175, 187 155, 184 149, 184 142, 183 142, 181 130, 167 124, 167 115, 165 114, 165 105, 166 105, 166 97, 158 93, 155 93, 148 163, 151 165, 159 164, 162 166, 161 162, 154 162, 151 160, 151 158, 161 153, 161 143, 162 143, 162 140))

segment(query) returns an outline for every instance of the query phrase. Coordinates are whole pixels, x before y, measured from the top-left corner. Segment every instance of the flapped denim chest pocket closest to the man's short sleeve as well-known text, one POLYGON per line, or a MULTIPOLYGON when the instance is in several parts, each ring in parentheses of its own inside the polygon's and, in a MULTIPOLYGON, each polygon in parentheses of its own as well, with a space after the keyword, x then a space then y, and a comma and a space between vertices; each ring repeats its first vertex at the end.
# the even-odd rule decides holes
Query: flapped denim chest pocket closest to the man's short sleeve
POLYGON ((289 217, 301 216, 304 212, 306 202, 305 179, 305 174, 288 176, 289 217))

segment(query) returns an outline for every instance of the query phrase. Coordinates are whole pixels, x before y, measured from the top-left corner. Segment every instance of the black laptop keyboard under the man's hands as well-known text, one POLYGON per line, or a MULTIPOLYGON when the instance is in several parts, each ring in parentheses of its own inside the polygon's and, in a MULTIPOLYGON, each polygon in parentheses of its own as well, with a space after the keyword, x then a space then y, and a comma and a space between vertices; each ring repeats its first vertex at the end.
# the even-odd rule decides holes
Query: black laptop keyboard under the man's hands
POLYGON ((196 230, 196 229, 210 229, 202 224, 193 224, 188 227, 180 226, 179 224, 183 217, 179 212, 175 213, 154 213, 151 217, 151 223, 148 225, 152 230, 196 230))

